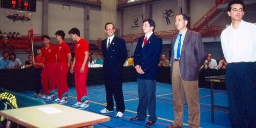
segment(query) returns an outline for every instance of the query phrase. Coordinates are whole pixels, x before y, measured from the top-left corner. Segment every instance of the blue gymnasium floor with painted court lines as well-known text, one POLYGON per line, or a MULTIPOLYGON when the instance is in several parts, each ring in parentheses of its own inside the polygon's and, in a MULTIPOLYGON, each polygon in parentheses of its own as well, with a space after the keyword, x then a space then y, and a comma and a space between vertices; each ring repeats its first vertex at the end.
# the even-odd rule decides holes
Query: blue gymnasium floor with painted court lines
MULTIPOLYGON (((88 97, 89 97, 89 108, 83 111, 89 111, 93 113, 100 113, 100 110, 105 108, 105 87, 104 85, 98 86, 88 86, 88 97)), ((34 92, 23 92, 21 94, 31 96, 34 92)), ((123 117, 116 117, 116 110, 113 113, 102 114, 110 116, 111 120, 109 122, 103 122, 99 124, 94 124, 94 127, 147 127, 145 124, 148 121, 130 121, 130 118, 136 116, 137 104, 138 104, 138 93, 137 93, 137 82, 123 83, 123 95, 125 103, 125 112, 123 117)), ((55 97, 57 95, 55 94, 55 97)), ((210 111, 210 89, 199 89, 200 96, 200 110, 201 110, 201 123, 200 127, 231 127, 228 110, 217 109, 214 111, 215 122, 211 122, 211 111, 210 111)), ((215 90, 214 91, 215 105, 228 106, 227 93, 225 90, 215 90)), ((173 123, 174 112, 173 112, 173 95, 172 87, 170 84, 157 83, 156 90, 156 100, 157 100, 157 110, 156 115, 158 120, 155 125, 150 127, 166 127, 173 123)), ((72 107, 72 104, 76 103, 76 91, 75 88, 69 88, 69 99, 68 103, 64 104, 72 107)), ((47 104, 52 103, 52 101, 46 101, 47 104)), ((82 118, 80 117, 77 118, 82 118)), ((185 104, 184 111, 184 123, 183 127, 188 127, 187 121, 187 106, 185 104)))

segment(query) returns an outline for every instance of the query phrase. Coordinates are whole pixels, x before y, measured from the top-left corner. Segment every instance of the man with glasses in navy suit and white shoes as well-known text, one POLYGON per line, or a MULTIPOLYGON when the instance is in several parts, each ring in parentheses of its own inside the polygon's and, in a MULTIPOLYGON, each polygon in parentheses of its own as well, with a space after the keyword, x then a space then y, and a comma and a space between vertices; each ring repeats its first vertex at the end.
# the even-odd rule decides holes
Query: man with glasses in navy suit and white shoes
POLYGON ((105 33, 108 38, 101 41, 101 50, 104 57, 103 77, 106 90, 106 108, 101 113, 111 113, 114 110, 113 95, 116 101, 117 117, 122 117, 125 107, 122 90, 122 68, 127 58, 125 42, 115 36, 115 26, 105 24, 105 33))

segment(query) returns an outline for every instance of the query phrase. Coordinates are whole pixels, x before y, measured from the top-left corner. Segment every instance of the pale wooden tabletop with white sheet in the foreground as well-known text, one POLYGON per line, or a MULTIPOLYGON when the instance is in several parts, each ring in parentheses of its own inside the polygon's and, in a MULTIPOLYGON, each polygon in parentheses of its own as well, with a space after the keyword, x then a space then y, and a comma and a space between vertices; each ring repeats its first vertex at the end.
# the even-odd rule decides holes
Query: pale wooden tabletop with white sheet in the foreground
POLYGON ((0 115, 25 127, 81 127, 110 121, 108 116, 57 103, 0 111, 0 115))

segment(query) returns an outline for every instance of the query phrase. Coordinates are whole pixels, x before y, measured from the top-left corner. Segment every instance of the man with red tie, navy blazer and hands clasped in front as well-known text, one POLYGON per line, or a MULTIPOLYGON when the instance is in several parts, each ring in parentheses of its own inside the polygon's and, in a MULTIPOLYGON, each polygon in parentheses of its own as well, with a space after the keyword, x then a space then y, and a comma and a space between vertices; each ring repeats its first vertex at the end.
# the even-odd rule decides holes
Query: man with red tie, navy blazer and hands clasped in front
POLYGON ((156 78, 163 41, 154 34, 155 22, 153 19, 144 19, 142 29, 145 35, 139 38, 134 52, 139 104, 137 116, 130 118, 130 120, 145 120, 148 109, 150 117, 146 125, 151 126, 157 120, 156 78))

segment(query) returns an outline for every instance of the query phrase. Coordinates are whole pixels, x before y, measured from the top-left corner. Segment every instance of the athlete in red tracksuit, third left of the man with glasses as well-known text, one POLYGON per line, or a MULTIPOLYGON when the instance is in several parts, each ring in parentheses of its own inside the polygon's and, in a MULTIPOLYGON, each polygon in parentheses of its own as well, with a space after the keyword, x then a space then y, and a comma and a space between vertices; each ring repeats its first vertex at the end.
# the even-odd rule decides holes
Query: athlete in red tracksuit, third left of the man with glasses
POLYGON ((50 44, 50 37, 48 35, 42 36, 42 42, 45 45, 41 48, 42 57, 45 59, 41 76, 42 90, 44 91, 45 96, 43 96, 42 99, 49 101, 55 97, 54 92, 56 87, 55 70, 57 53, 56 47, 50 44), (48 81, 50 84, 50 89, 48 88, 48 81))

